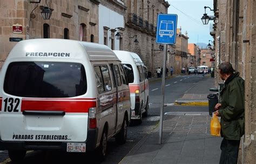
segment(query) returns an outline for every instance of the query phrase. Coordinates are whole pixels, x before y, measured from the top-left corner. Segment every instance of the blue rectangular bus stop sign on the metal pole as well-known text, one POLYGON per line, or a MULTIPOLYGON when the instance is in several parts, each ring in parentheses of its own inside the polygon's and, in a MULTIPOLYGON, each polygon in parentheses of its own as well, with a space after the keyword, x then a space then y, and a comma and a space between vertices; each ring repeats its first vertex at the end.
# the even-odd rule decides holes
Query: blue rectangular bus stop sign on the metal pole
POLYGON ((157 43, 175 44, 177 36, 176 14, 159 14, 157 19, 157 43))

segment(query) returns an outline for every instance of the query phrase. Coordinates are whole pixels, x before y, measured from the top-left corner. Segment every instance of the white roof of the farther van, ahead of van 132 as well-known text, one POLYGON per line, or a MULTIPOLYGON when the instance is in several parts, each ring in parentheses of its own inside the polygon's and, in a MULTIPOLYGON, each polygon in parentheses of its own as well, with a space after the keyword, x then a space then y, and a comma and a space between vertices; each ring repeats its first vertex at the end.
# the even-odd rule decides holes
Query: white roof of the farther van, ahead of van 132
POLYGON ((137 53, 129 52, 129 51, 118 51, 118 50, 114 50, 114 53, 116 53, 117 57, 123 62, 128 62, 133 60, 134 63, 143 64, 142 59, 140 59, 137 53))

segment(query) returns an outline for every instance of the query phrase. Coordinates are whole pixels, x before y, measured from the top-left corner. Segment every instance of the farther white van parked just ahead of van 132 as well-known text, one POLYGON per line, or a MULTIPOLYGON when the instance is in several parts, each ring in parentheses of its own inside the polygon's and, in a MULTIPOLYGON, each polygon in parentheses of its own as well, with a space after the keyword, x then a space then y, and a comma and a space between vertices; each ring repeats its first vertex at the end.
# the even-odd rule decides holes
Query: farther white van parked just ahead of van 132
POLYGON ((149 110, 149 80, 147 67, 138 54, 127 51, 114 51, 122 61, 129 81, 131 94, 132 119, 142 121, 142 115, 149 110))

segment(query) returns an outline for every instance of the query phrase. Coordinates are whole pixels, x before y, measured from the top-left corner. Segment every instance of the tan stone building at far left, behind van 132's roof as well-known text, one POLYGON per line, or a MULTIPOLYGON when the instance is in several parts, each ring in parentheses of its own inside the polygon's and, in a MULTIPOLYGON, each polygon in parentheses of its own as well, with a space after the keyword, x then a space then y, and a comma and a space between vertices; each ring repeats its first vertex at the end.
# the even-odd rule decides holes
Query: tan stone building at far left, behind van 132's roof
POLYGON ((1 0, 0 68, 17 43, 10 42, 10 38, 66 38, 98 43, 98 0, 55 0, 47 3, 53 11, 51 18, 44 20, 41 8, 45 1, 1 0), (22 26, 22 33, 12 31, 12 26, 17 24, 22 26))

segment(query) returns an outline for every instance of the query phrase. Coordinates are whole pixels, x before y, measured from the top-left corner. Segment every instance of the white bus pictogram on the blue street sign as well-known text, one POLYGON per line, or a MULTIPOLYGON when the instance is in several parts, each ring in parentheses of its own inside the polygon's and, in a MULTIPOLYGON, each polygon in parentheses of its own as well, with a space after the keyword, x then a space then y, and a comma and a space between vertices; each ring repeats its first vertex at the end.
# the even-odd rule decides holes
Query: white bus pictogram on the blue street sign
POLYGON ((174 33, 174 24, 172 20, 161 20, 160 22, 160 29, 159 29, 159 36, 169 36, 170 38, 173 36, 174 33))

